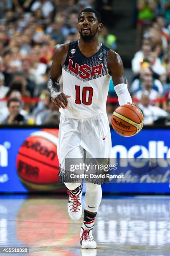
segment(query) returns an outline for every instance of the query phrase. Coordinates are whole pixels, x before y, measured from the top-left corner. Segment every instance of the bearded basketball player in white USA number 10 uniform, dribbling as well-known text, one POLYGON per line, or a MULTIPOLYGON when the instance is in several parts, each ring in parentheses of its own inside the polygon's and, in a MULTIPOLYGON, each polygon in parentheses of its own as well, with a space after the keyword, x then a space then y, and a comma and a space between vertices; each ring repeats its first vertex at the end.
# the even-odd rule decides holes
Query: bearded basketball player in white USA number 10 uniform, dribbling
MULTIPOLYGON (((57 45, 53 55, 48 90, 61 112, 58 141, 60 177, 66 158, 109 158, 112 144, 106 101, 111 76, 119 105, 132 103, 122 59, 99 42, 101 29, 100 14, 91 8, 82 10, 78 18, 79 40, 57 45), (58 81, 61 74, 62 92, 58 81)), ((69 215, 72 220, 79 220, 82 214, 81 182, 65 184, 69 194, 69 215)), ((101 195, 100 184, 86 184, 81 248, 96 248, 92 231, 101 195)))

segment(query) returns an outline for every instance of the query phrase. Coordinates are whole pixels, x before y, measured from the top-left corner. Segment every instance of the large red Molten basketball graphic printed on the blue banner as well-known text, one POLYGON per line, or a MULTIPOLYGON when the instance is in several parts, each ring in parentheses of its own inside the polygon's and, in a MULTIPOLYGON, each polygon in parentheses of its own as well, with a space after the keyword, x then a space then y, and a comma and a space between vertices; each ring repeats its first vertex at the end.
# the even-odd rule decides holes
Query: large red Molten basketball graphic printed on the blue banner
POLYGON ((16 168, 22 184, 29 191, 58 191, 58 130, 43 129, 30 134, 20 146, 16 168))

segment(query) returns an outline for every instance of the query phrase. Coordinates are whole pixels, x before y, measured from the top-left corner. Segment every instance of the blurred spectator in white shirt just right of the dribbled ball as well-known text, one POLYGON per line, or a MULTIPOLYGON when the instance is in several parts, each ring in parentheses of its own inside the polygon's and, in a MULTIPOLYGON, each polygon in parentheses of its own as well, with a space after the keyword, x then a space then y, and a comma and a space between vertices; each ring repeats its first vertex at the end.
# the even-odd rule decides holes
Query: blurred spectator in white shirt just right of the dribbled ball
MULTIPOLYGON (((165 110, 150 104, 150 96, 148 91, 144 91, 141 95, 138 107, 144 115, 144 125, 153 125, 159 118, 167 118, 169 115, 165 110)), ((162 120, 161 120, 162 121, 162 120)))

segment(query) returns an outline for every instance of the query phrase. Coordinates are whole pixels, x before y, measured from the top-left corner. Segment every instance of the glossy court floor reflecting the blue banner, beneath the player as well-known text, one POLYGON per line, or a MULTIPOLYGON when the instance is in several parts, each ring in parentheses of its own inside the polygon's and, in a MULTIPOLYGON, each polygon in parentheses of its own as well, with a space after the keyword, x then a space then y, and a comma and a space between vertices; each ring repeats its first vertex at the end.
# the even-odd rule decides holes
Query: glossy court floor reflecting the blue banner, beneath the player
POLYGON ((103 196, 94 250, 80 248, 82 220, 69 218, 65 196, 1 196, 0 247, 29 247, 32 256, 170 255, 170 197, 103 196))

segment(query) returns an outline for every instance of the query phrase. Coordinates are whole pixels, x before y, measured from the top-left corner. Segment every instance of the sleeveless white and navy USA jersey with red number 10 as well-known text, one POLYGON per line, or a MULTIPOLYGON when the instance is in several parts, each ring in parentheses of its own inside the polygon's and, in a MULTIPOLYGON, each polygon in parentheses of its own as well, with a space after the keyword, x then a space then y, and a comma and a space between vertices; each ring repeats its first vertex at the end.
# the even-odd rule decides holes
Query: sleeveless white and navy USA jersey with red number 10
POLYGON ((93 56, 85 57, 72 41, 62 69, 63 93, 69 105, 60 112, 69 118, 89 118, 106 111, 110 75, 107 69, 109 48, 101 45, 93 56))

